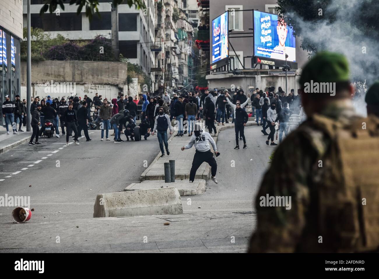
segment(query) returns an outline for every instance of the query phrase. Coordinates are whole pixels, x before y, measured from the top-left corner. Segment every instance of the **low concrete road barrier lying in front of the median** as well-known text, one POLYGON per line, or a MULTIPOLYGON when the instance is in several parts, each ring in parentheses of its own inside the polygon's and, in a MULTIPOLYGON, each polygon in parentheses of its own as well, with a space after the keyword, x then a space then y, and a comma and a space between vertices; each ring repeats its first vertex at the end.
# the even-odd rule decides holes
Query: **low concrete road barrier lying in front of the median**
POLYGON ((183 213, 175 187, 98 194, 94 218, 183 213))

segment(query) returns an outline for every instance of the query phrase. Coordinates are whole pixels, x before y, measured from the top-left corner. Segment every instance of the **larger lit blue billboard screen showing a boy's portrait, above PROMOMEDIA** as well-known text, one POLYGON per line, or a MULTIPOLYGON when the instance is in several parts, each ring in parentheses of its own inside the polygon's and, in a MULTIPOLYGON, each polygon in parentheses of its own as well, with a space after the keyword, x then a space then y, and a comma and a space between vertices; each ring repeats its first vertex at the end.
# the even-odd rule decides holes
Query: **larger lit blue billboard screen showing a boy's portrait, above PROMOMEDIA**
POLYGON ((292 28, 276 14, 254 11, 254 56, 296 61, 292 28))

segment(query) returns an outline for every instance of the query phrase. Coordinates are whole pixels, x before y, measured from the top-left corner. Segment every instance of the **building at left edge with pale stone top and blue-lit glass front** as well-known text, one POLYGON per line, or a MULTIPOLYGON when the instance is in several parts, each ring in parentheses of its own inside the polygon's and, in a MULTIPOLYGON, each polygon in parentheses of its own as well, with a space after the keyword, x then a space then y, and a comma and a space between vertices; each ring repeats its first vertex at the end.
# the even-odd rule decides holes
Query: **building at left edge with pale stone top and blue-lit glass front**
MULTIPOLYGON (((22 40, 22 0, 0 1, 0 110, 5 96, 20 95, 20 40, 22 40)), ((21 96, 25 98, 26 96, 21 96)), ((3 114, 0 125, 5 124, 3 114)))

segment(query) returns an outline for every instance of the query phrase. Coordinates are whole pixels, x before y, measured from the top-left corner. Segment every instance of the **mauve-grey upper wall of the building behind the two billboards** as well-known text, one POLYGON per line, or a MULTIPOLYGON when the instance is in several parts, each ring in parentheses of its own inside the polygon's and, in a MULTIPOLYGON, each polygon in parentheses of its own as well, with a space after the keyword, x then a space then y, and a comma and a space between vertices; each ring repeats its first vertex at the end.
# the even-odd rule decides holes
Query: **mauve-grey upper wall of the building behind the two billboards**
MULTIPOLYGON (((229 5, 242 5, 243 9, 257 9, 259 11, 265 11, 266 5, 275 5, 277 0, 210 0, 210 25, 212 23, 212 19, 219 16, 220 14, 226 11, 225 6, 229 5)), ((243 15, 243 33, 252 32, 249 28, 253 28, 253 15, 252 11, 238 12, 243 15)), ((210 30, 211 32, 211 30, 210 30)), ((238 32, 233 31, 233 36, 238 36, 238 32)), ((241 36, 249 36, 252 34, 241 34, 241 36)), ((210 38, 212 38, 210 34, 210 38)), ((230 43, 233 45, 237 54, 238 52, 243 52, 243 56, 252 56, 253 52, 253 38, 230 38, 230 43)), ((307 62, 307 52, 300 48, 300 40, 296 38, 296 62, 298 63, 298 68, 301 68, 307 62)), ((232 55, 233 49, 230 47, 229 54, 232 55)), ((241 61, 243 62, 243 61, 241 61)), ((238 63, 238 61, 236 61, 238 63)), ((245 60, 245 67, 251 67, 251 59, 248 58, 245 60)))

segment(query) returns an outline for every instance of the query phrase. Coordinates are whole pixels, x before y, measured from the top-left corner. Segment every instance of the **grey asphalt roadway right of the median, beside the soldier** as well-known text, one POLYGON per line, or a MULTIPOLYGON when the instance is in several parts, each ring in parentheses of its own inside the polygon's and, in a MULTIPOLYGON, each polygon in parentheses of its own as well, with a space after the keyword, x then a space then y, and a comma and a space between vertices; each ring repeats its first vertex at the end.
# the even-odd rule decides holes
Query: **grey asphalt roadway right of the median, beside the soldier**
POLYGON ((239 141, 240 149, 237 150, 234 149, 234 129, 219 133, 217 150, 220 156, 216 157, 218 184, 208 180, 204 194, 182 197, 185 213, 254 211, 255 196, 275 148, 266 145, 267 136, 263 136, 260 130, 261 126, 246 127, 247 149, 242 149, 243 141, 239 141))

